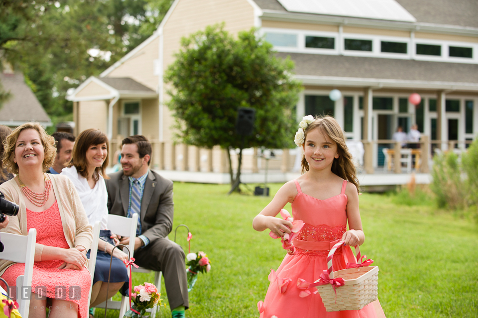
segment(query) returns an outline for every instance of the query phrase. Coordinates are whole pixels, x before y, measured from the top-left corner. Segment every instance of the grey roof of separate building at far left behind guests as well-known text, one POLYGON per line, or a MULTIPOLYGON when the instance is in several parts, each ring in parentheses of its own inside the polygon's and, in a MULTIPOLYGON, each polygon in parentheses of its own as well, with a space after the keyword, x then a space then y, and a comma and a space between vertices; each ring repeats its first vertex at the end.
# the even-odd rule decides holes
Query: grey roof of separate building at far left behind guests
POLYGON ((23 74, 0 73, 3 90, 11 97, 0 107, 0 124, 18 126, 28 121, 38 121, 44 127, 51 126, 50 117, 26 85, 23 74))

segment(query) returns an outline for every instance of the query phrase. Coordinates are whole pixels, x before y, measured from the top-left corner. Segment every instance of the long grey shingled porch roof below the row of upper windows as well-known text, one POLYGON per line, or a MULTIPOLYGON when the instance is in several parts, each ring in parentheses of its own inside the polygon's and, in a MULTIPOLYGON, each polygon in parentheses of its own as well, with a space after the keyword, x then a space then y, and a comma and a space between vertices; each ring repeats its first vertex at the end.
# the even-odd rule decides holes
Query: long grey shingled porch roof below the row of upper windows
POLYGON ((295 62, 304 85, 478 91, 478 65, 304 53, 276 53, 295 62))

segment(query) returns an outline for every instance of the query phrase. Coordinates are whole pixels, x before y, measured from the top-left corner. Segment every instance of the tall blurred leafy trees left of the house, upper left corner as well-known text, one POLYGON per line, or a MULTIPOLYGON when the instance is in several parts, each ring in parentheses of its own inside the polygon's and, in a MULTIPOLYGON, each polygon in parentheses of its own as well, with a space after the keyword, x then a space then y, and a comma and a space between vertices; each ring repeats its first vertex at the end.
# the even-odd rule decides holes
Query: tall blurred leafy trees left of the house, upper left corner
POLYGON ((67 91, 157 28, 172 0, 0 0, 0 51, 53 122, 71 120, 67 91))

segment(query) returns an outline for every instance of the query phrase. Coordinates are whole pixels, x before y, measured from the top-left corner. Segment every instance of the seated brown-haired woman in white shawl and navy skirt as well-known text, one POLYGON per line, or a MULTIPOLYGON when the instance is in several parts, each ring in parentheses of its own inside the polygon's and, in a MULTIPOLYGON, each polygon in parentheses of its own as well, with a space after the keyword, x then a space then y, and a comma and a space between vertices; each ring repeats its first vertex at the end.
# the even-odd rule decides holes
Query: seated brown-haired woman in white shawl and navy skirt
MULTIPOLYGON (((108 223, 108 192, 105 178, 109 179, 105 170, 108 166, 109 153, 108 137, 99 129, 82 131, 75 141, 73 153, 68 168, 63 168, 60 175, 67 176, 75 186, 85 208, 88 222, 94 225, 100 221, 100 242, 96 256, 95 275, 91 290, 90 306, 95 307, 107 298, 113 297, 129 281, 123 260, 127 255, 119 248, 113 251, 115 242, 112 233, 107 229, 108 223), (113 262, 111 267, 110 288, 108 276, 110 272, 111 253, 113 262)), ((90 251, 87 253, 89 256, 90 251)), ((93 315, 90 311, 90 315, 93 315)))

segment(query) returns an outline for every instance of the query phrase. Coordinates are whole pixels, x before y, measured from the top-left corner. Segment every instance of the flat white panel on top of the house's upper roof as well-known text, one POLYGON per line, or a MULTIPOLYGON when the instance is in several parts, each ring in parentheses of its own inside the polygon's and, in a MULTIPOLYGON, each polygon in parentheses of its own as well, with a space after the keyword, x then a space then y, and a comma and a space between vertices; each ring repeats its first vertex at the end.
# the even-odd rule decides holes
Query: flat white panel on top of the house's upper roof
POLYGON ((395 0, 278 0, 287 11, 415 22, 395 0))

